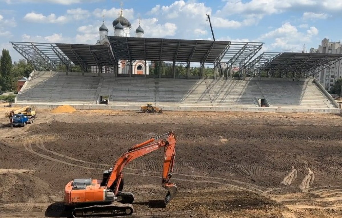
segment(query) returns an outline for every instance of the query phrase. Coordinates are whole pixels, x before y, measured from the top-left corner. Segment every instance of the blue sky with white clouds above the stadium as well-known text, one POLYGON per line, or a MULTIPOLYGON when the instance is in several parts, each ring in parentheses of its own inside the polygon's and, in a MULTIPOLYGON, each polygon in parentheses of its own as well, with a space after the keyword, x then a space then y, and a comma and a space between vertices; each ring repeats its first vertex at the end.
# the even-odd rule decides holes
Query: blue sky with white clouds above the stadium
MULTIPOLYGON (((265 42, 262 51, 307 50, 342 38, 342 0, 123 0, 123 15, 145 37, 265 42)), ((9 41, 86 43, 98 40, 102 15, 111 22, 120 0, 0 0, 0 49, 21 56, 9 41)))

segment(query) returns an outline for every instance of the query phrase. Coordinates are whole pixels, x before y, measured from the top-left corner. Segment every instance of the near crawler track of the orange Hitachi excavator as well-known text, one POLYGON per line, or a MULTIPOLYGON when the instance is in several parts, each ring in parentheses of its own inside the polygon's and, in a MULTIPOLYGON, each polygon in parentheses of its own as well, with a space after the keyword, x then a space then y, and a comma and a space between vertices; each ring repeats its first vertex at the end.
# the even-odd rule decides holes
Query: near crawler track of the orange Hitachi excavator
POLYGON ((109 205, 92 205, 89 207, 77 207, 73 210, 73 217, 124 217, 133 214, 131 204, 113 202, 109 205))

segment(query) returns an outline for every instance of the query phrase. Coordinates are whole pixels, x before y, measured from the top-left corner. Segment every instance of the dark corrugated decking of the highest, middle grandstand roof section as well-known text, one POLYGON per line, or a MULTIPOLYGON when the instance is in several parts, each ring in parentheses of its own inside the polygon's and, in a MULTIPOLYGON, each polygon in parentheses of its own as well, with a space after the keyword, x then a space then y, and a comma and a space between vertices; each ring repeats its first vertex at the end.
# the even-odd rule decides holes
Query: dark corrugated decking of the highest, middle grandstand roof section
POLYGON ((213 63, 228 41, 180 40, 108 36, 115 59, 213 63))

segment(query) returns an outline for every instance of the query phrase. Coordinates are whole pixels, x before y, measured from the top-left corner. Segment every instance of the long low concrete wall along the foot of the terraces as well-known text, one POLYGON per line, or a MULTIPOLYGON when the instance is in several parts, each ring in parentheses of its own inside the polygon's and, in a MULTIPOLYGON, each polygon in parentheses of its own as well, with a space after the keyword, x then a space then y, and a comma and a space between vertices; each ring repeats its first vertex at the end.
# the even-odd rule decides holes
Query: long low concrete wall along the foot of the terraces
MULTIPOLYGON (((38 109, 53 109, 63 104, 44 103, 13 103, 12 107, 35 106, 38 109)), ((127 110, 140 111, 140 105, 95 105, 70 104, 77 110, 127 110)), ((275 113, 342 113, 341 109, 321 108, 277 108, 277 107, 194 107, 194 106, 164 106, 163 111, 212 111, 212 112, 275 112, 275 113)))

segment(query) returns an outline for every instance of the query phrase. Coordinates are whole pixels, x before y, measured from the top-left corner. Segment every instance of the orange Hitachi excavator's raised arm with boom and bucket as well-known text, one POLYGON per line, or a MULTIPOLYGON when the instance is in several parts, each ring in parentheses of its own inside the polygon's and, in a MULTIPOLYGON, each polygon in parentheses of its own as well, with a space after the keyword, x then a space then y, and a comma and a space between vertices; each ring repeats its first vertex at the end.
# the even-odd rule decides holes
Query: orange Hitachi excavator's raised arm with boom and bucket
POLYGON ((121 179, 123 177, 122 171, 124 167, 131 162, 132 160, 142 157, 148 153, 151 153, 159 148, 164 148, 164 163, 163 163, 163 172, 162 172, 162 187, 168 190, 168 194, 165 197, 165 204, 168 204, 172 198, 177 193, 177 186, 170 181, 172 172, 173 172, 173 164, 175 157, 175 146, 176 146, 176 138, 174 132, 169 132, 164 135, 157 137, 156 139, 152 138, 143 142, 141 144, 137 144, 124 152, 116 161, 113 170, 111 171, 106 187, 108 189, 113 189, 114 194, 117 195, 119 192, 119 186, 121 183, 121 179), (156 139, 168 135, 167 139, 158 140, 156 139))

